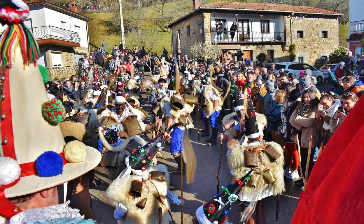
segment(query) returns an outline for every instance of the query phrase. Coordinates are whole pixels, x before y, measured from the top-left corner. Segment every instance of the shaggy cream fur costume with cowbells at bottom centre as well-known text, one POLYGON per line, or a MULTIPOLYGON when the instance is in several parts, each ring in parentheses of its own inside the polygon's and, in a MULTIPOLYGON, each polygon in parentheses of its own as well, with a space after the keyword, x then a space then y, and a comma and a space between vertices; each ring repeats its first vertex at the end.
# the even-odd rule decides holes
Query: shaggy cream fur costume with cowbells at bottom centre
MULTIPOLYGON (((106 197, 114 206, 120 202, 127 207, 125 217, 123 217, 122 220, 118 220, 119 224, 158 223, 158 207, 162 208, 163 224, 169 223, 170 217, 166 211, 166 208, 161 202, 159 202, 158 199, 155 198, 155 196, 158 195, 158 192, 162 197, 167 195, 167 190, 169 187, 168 169, 165 165, 159 164, 149 167, 147 171, 149 172, 145 172, 143 178, 137 175, 127 175, 123 178, 116 178, 107 188, 106 197), (151 171, 165 172, 166 182, 159 182, 157 180, 149 179, 151 171), (133 199, 133 196, 130 194, 131 182, 133 180, 144 180, 142 196, 135 197, 135 199, 133 199), (155 186, 152 183, 154 183, 155 186), (155 187, 158 188, 158 192, 155 187), (136 207, 136 204, 144 197, 147 198, 146 206, 144 209, 139 209, 136 207)), ((165 197, 163 201, 167 208, 170 209, 168 199, 165 197)))

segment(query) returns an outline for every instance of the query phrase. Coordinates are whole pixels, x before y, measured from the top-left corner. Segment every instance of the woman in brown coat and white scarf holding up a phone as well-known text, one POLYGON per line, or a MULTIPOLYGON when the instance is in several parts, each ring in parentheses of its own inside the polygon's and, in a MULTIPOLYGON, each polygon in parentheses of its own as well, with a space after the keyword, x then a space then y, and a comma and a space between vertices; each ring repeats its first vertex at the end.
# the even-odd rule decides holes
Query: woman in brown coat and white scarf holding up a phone
POLYGON ((320 140, 317 145, 320 145, 322 142, 325 146, 332 136, 330 131, 330 121, 340 106, 341 103, 339 99, 334 99, 327 93, 321 96, 315 117, 316 126, 321 132, 320 140))

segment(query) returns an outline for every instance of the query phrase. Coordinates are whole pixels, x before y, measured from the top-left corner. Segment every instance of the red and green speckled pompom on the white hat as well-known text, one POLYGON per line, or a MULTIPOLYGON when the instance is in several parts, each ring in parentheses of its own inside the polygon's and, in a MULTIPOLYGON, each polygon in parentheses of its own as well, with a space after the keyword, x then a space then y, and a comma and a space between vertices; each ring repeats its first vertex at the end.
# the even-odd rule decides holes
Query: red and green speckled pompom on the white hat
POLYGON ((66 110, 62 102, 56 98, 43 103, 41 110, 44 120, 52 125, 63 121, 66 117, 66 110))

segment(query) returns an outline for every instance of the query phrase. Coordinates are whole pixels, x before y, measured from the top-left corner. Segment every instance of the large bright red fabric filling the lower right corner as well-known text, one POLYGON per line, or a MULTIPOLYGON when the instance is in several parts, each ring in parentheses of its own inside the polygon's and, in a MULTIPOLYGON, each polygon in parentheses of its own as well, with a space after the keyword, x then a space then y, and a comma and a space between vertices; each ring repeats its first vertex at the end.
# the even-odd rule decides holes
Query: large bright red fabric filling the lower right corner
POLYGON ((321 152, 292 224, 364 223, 363 110, 359 99, 321 152))

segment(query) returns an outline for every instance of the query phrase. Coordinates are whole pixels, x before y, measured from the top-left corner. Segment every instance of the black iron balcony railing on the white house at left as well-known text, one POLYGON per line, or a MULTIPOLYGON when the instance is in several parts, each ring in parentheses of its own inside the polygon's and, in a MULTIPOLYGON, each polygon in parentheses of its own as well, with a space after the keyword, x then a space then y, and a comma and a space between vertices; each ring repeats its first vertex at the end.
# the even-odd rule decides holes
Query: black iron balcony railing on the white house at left
POLYGON ((37 40, 54 38, 74 43, 79 43, 81 40, 78 33, 53 26, 32 27, 30 30, 37 40))

